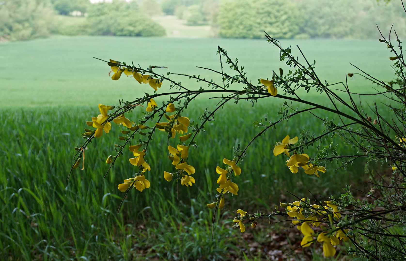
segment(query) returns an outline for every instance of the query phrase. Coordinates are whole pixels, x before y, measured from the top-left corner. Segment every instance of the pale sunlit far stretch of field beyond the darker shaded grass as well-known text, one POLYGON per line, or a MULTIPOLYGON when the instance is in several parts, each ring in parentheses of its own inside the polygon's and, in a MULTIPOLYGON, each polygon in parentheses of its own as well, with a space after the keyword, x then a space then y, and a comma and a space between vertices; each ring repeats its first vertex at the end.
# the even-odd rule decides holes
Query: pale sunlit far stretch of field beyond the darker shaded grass
MULTIPOLYGON (((282 44, 299 45, 309 61, 316 60, 322 81, 345 80, 346 73, 357 70, 349 62, 380 79, 393 79, 388 59, 390 53, 372 40, 284 40, 282 44)), ((93 57, 140 64, 167 66, 167 71, 202 75, 219 80, 218 75, 195 66, 220 69, 217 46, 229 56, 240 59, 248 77, 270 77, 272 70, 287 67, 279 62, 278 50, 264 40, 252 39, 177 39, 112 36, 58 36, 49 39, 0 43, 0 103, 2 107, 93 106, 117 103, 119 98, 151 92, 134 79, 112 81, 110 68, 93 57)), ((294 48, 294 53, 300 55, 294 48)), ((184 78, 190 88, 198 84, 184 78)), ((165 86, 165 84, 164 84, 165 86)), ((205 86, 203 86, 205 87, 205 86)), ((373 85, 357 75, 350 80, 355 92, 371 92, 373 85)), ((163 90, 163 89, 161 89, 163 90)))

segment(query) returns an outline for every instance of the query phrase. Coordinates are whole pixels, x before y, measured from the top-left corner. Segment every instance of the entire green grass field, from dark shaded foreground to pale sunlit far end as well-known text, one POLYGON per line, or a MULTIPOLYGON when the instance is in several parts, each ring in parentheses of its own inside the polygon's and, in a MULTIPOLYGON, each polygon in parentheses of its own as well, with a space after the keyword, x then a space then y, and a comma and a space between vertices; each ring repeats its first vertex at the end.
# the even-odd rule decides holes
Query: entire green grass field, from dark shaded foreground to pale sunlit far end
MULTIPOLYGON (((389 54, 378 41, 317 39, 282 43, 300 45, 309 60, 317 61, 322 79, 329 82, 343 81, 345 73, 355 72, 348 62, 377 77, 393 78, 387 66, 389 54)), ((240 101, 221 109, 206 132, 198 136, 199 147, 190 151, 188 163, 197 169, 196 184, 181 187, 179 201, 175 182, 163 178, 163 172, 172 165, 167 159, 167 141, 158 133, 148 154, 151 188, 143 193, 132 190, 117 214, 123 197, 117 184, 129 178, 134 168, 127 163, 131 153, 125 151, 103 179, 108 167, 105 160, 113 154, 114 144, 121 142, 117 137, 122 128, 116 124, 85 151, 84 170, 76 169, 66 180, 75 154, 73 148, 83 141, 80 133, 86 128, 85 121, 99 113, 97 104, 114 105, 119 98, 133 100, 152 92, 134 79, 112 81, 107 76, 109 67, 93 56, 134 60, 142 66, 168 66, 168 71, 218 79, 194 67, 218 69, 217 45, 229 50, 231 57, 238 57, 252 79, 283 67, 276 49, 262 40, 78 36, 0 44, 0 258, 227 260, 241 257, 242 250, 250 252, 241 243, 239 230, 226 219, 230 217, 227 211, 217 219, 212 241, 212 211, 206 204, 214 201, 216 166, 222 166, 222 158, 232 155, 233 147, 245 146, 261 131, 253 127, 253 121, 267 113, 268 118, 278 120, 276 112, 282 100, 261 101, 254 107, 240 101)), ((192 88, 199 87, 194 81, 185 81, 192 88)), ((357 92, 373 91, 373 86, 360 77, 350 83, 357 92)), ((316 94, 310 97, 324 102, 316 94)), ((197 122, 204 109, 215 104, 201 98, 185 113, 197 122)), ((127 118, 135 120, 144 109, 140 107, 127 118)), ((294 199, 287 191, 311 197, 308 190, 316 195, 339 196, 347 183, 362 189, 365 175, 361 160, 350 169, 337 171, 340 164, 331 163, 327 172, 316 178, 291 173, 281 156, 273 156, 273 145, 285 135, 294 137, 306 129, 320 133, 323 128, 321 121, 308 114, 262 135, 240 164, 242 175, 233 180, 240 191, 238 196, 227 197, 225 209, 270 212, 281 199, 294 199)), ((356 153, 340 145, 338 138, 324 142, 333 142, 341 152, 356 153)), ((308 154, 313 153, 315 148, 310 148, 308 154)), ((249 228, 248 232, 257 240, 270 240, 266 235, 277 226, 264 226, 258 232, 249 228)), ((266 259, 266 255, 260 258, 266 259)))

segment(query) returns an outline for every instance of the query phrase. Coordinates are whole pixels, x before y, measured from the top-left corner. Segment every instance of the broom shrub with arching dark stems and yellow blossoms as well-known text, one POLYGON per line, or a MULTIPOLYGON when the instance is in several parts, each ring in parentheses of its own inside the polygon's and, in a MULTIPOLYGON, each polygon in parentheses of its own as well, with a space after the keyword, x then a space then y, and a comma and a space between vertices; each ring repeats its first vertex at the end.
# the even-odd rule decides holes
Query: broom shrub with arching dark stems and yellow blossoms
MULTIPOLYGON (((125 193, 132 193, 132 188, 139 192, 153 186, 147 178, 153 161, 148 159, 149 143, 154 135, 165 135, 168 139, 168 159, 172 162, 173 168, 167 169, 161 175, 168 182, 177 182, 181 188, 193 186, 196 169, 188 164, 188 159, 193 154, 193 149, 197 148, 194 140, 197 135, 204 135, 204 127, 207 122, 213 120, 216 111, 230 101, 238 103, 239 100, 251 101, 253 106, 261 98, 283 99, 285 102, 279 111, 281 118, 275 122, 272 120, 256 121, 254 125, 262 128, 244 148, 235 148, 233 154, 225 155, 223 164, 216 168, 218 178, 216 183, 216 201, 207 203, 207 207, 215 212, 224 208, 225 201, 230 193, 238 195, 238 184, 233 182, 233 177, 244 175, 240 165, 244 164, 244 156, 247 149, 256 139, 266 131, 272 130, 280 122, 300 116, 301 113, 312 113, 314 117, 322 120, 325 129, 323 133, 301 132, 300 137, 294 136, 292 139, 287 133, 282 141, 275 142, 273 154, 281 158, 281 164, 285 164, 292 173, 304 173, 323 178, 323 173, 328 171, 328 163, 333 160, 340 160, 343 167, 352 165, 357 158, 365 158, 367 166, 370 163, 380 162, 384 167, 389 168, 393 175, 386 179, 376 179, 373 182, 370 195, 375 198, 373 203, 356 199, 350 186, 344 188, 344 193, 339 198, 320 197, 300 198, 294 202, 280 203, 285 211, 271 213, 248 213, 244 210, 236 210, 233 222, 235 227, 239 227, 241 232, 245 231, 245 225, 251 224, 255 228, 257 219, 274 216, 289 217, 303 234, 301 247, 308 247, 311 244, 322 244, 325 257, 336 254, 335 245, 340 241, 349 242, 348 252, 354 257, 362 257, 368 260, 380 260, 385 257, 388 260, 404 260, 406 251, 404 248, 406 218, 406 189, 405 174, 405 153, 406 153, 406 120, 404 111, 406 110, 406 75, 402 45, 397 37, 391 40, 382 35, 382 45, 393 54, 390 60, 394 61, 395 79, 392 81, 382 81, 369 75, 367 72, 358 69, 359 73, 348 73, 348 77, 361 75, 366 80, 375 84, 378 89, 374 94, 354 94, 350 92, 347 81, 338 84, 322 83, 315 72, 315 63, 309 63, 299 48, 305 63, 300 63, 298 58, 292 54, 291 47, 282 47, 279 41, 266 35, 267 41, 273 44, 280 51, 280 60, 290 67, 287 73, 280 68, 273 71, 272 75, 264 75, 262 79, 252 81, 246 77, 244 66, 238 65, 238 59, 232 60, 227 51, 218 47, 220 56, 221 71, 214 71, 221 76, 220 83, 213 80, 206 80, 196 75, 185 75, 177 73, 167 73, 162 75, 157 72, 158 66, 140 68, 134 64, 119 62, 116 60, 104 61, 111 68, 112 80, 123 80, 123 74, 134 78, 134 84, 148 84, 153 89, 153 94, 136 98, 134 101, 119 101, 119 105, 106 106, 99 104, 98 116, 87 121, 88 127, 85 129, 84 143, 75 148, 77 150, 75 161, 71 168, 77 169, 83 160, 83 151, 94 139, 102 138, 104 133, 109 133, 111 128, 122 128, 122 136, 119 137, 120 144, 115 144, 115 155, 107 156, 106 164, 110 165, 106 172, 111 169, 119 156, 128 155, 129 164, 134 165, 136 173, 131 176, 123 176, 123 183, 118 184, 118 190, 125 193), (395 48, 395 45, 397 47, 395 48), (232 73, 225 72, 223 62, 229 66, 232 73), (190 90, 181 82, 171 79, 171 75, 182 75, 195 79, 200 83, 207 84, 208 88, 190 90), (304 89, 306 92, 299 92, 304 89), (311 89, 320 92, 326 97, 330 107, 320 105, 306 99, 306 93, 311 89), (164 90, 163 92, 161 90, 164 90), (190 122, 184 113, 186 107, 201 94, 211 94, 220 98, 220 102, 213 111, 205 110, 199 118, 199 122, 190 122), (356 102, 354 95, 359 97, 356 102), (386 106, 390 109, 389 116, 384 117, 380 113, 378 105, 364 107, 361 103, 364 95, 383 96, 390 103, 386 106), (155 98, 165 98, 162 105, 154 100, 155 98), (290 101, 290 103, 288 103, 290 101), (296 109, 293 105, 299 104, 303 109, 296 109), (145 109, 138 105, 146 105, 145 109), (341 108, 341 109, 340 109, 341 108), (345 110, 343 109, 345 108, 345 110), (143 116, 138 119, 126 118, 133 110, 143 110, 143 116), (335 119, 323 118, 323 112, 330 112, 337 116, 335 119), (153 124, 147 124, 152 121, 153 124), (115 124, 112 124, 115 123, 115 124), (88 129, 91 128, 91 129, 88 129), (338 152, 334 145, 324 144, 327 137, 338 135, 341 142, 357 149, 357 154, 346 155, 338 152), (307 148, 317 145, 317 153, 306 154, 307 148), (130 152, 128 152, 129 150, 130 152), (150 165, 151 164, 151 165, 150 165)), ((292 136, 293 136, 292 135, 292 136)), ((82 168, 84 163, 82 163, 82 168)), ((367 169, 368 170, 368 169, 367 169)), ((213 170, 214 171, 214 170, 213 170)), ((70 175, 70 173, 69 173, 70 175)), ((121 205, 120 205, 121 206, 121 205)), ((213 216, 214 223, 215 215, 213 216)))

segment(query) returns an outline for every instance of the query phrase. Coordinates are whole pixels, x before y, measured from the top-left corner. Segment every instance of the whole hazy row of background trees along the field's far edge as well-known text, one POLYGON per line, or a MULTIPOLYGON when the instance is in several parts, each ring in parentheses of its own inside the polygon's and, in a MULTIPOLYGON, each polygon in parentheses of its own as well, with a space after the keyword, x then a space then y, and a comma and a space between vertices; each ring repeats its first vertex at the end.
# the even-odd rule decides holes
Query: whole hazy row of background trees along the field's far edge
POLYGON ((176 15, 190 26, 210 25, 227 38, 376 38, 374 25, 406 36, 400 1, 376 0, 2 0, 0 41, 65 35, 164 36, 154 15, 176 15), (56 14, 86 16, 61 24, 56 14))

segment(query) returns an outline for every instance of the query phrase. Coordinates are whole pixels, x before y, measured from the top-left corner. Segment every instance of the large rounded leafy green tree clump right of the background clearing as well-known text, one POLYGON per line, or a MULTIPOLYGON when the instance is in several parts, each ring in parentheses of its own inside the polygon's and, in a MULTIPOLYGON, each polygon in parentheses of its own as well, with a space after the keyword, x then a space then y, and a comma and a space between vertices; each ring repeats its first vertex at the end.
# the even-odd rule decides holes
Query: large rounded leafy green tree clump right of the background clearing
POLYGON ((224 0, 218 10, 222 37, 292 38, 298 31, 296 6, 283 0, 224 0))

